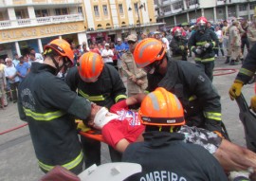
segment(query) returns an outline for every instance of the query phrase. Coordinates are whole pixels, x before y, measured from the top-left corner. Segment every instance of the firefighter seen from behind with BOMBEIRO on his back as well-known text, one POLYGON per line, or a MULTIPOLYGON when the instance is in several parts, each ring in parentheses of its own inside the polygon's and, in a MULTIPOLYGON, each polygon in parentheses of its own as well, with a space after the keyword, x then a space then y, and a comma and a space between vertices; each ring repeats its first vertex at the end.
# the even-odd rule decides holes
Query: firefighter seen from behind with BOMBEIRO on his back
POLYGON ((142 100, 138 118, 146 126, 144 141, 131 143, 122 156, 123 162, 140 164, 142 172, 127 180, 228 180, 206 149, 185 143, 185 135, 177 133, 185 124, 183 113, 179 100, 164 88, 142 100))

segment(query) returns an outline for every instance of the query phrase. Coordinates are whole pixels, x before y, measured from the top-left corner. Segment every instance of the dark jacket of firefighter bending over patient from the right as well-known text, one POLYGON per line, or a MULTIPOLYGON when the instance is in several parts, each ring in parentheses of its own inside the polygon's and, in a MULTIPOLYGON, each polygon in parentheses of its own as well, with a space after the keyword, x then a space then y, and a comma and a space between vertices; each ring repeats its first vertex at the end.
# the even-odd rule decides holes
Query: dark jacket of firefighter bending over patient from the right
POLYGON ((206 74, 194 63, 169 61, 164 76, 148 74, 148 91, 164 87, 181 101, 186 123, 221 133, 220 96, 206 74))

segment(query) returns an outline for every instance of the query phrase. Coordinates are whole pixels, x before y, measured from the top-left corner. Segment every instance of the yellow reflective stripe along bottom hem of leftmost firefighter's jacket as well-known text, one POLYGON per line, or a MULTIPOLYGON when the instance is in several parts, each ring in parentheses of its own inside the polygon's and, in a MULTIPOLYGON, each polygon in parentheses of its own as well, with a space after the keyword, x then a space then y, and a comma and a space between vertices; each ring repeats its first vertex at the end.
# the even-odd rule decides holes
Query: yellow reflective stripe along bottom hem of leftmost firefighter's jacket
MULTIPOLYGON (((67 170, 71 170, 71 169, 77 167, 81 162, 82 162, 82 152, 75 159, 73 159, 72 161, 70 161, 70 162, 68 162, 64 165, 61 165, 61 166, 64 167, 65 169, 67 169, 67 170)), ((38 160, 38 165, 39 165, 39 167, 41 167, 45 171, 50 171, 55 167, 55 165, 54 166, 46 165, 45 163, 43 163, 39 160, 38 160)))

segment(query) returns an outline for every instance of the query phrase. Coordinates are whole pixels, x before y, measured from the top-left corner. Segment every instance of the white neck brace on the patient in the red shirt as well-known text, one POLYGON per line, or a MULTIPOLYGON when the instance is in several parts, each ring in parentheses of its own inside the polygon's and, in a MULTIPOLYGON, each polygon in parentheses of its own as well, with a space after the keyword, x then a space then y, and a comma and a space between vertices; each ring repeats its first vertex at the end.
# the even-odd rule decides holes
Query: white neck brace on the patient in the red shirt
POLYGON ((110 113, 107 108, 101 107, 101 109, 95 115, 94 127, 101 130, 105 124, 107 124, 110 120, 113 120, 115 118, 119 118, 119 116, 110 113))

